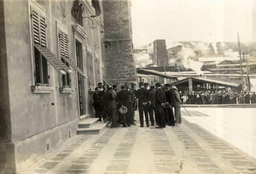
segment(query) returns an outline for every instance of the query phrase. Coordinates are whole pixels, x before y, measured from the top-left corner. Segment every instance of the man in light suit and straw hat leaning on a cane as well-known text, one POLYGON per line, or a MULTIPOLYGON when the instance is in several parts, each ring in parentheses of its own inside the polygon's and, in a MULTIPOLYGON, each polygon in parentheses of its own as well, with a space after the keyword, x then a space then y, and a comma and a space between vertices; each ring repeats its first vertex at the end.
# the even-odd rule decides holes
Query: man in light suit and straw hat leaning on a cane
POLYGON ((174 115, 175 115, 175 123, 176 124, 181 124, 181 115, 180 115, 180 104, 182 102, 180 101, 180 95, 177 92, 177 87, 172 86, 172 107, 174 107, 174 115))

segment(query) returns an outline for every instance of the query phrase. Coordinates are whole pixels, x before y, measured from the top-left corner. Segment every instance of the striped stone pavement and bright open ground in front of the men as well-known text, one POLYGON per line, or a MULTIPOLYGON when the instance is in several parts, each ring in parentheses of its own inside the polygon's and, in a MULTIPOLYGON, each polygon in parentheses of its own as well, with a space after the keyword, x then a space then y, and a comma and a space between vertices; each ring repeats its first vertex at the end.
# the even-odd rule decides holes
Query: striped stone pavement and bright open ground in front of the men
MULTIPOLYGON (((229 132, 243 125, 232 122, 240 110, 225 115, 211 109, 189 108, 192 117, 183 110, 183 123, 165 129, 140 127, 136 113, 137 126, 76 135, 21 174, 256 174, 256 159, 234 143, 235 137, 242 138, 245 146, 247 141, 241 141, 247 137, 237 134, 239 130, 229 132)), ((243 115, 245 123, 255 121, 243 115)), ((245 130, 240 132, 255 130, 241 127, 245 130)))

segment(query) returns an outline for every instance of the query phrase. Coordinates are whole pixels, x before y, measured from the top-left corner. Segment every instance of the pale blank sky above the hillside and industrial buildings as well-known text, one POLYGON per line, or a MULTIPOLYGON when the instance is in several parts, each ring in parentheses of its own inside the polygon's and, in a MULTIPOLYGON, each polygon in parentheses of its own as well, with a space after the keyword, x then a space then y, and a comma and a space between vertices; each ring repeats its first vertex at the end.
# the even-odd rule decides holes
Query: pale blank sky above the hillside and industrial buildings
POLYGON ((237 41, 237 32, 240 42, 256 41, 255 3, 256 0, 132 0, 134 46, 148 45, 155 39, 166 39, 167 47, 178 41, 237 41))

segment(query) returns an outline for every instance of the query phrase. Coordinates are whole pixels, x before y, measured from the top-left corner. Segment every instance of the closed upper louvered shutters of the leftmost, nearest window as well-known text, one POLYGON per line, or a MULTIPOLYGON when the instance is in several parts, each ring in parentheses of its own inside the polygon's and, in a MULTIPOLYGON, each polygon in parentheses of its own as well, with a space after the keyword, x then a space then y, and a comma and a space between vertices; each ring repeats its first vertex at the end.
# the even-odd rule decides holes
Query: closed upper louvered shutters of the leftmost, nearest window
POLYGON ((32 10, 32 32, 35 43, 47 47, 46 18, 32 10))

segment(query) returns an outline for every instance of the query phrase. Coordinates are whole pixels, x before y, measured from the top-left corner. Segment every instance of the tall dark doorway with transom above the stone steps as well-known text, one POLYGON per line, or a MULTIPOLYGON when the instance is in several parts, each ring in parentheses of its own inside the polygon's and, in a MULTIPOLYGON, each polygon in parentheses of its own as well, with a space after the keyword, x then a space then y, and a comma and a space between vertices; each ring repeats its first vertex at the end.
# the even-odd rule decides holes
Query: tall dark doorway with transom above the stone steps
MULTIPOLYGON (((76 62, 80 70, 84 71, 84 61, 83 61, 83 45, 76 39, 76 62)), ((77 73, 78 82, 78 98, 79 98, 79 117, 86 114, 85 107, 85 87, 84 78, 77 73)))

